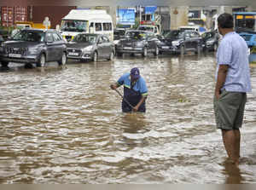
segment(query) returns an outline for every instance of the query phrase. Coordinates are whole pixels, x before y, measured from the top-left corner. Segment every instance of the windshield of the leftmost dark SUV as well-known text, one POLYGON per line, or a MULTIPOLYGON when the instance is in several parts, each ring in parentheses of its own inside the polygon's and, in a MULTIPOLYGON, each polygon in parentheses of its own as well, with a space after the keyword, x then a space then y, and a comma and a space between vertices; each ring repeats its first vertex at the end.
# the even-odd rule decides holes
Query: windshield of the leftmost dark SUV
POLYGON ((44 42, 45 33, 41 31, 20 31, 13 37, 14 40, 26 42, 44 42))

